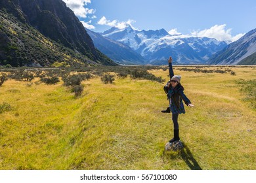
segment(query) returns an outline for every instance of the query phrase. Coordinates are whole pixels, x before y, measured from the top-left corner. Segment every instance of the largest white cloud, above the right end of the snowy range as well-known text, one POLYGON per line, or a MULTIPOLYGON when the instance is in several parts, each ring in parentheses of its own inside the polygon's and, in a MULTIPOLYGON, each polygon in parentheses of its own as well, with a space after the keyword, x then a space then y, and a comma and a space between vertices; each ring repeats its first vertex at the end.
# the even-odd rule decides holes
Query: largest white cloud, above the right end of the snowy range
POLYGON ((209 29, 204 29, 202 31, 193 31, 191 34, 194 37, 209 37, 215 38, 218 41, 237 41, 244 34, 240 33, 232 37, 231 29, 225 29, 226 25, 214 25, 209 29))

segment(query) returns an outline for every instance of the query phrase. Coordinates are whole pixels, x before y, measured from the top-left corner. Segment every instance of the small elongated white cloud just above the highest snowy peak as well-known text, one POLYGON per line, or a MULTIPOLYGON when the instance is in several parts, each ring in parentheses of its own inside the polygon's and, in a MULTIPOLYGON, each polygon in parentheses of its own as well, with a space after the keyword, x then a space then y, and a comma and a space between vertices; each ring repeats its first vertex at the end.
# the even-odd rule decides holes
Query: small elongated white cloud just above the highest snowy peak
POLYGON ((118 20, 106 20, 105 16, 102 16, 102 18, 100 18, 100 20, 98 21, 98 25, 108 25, 110 27, 117 27, 118 29, 124 29, 125 27, 127 27, 128 25, 131 25, 135 23, 135 20, 127 20, 125 22, 119 22, 118 20))

